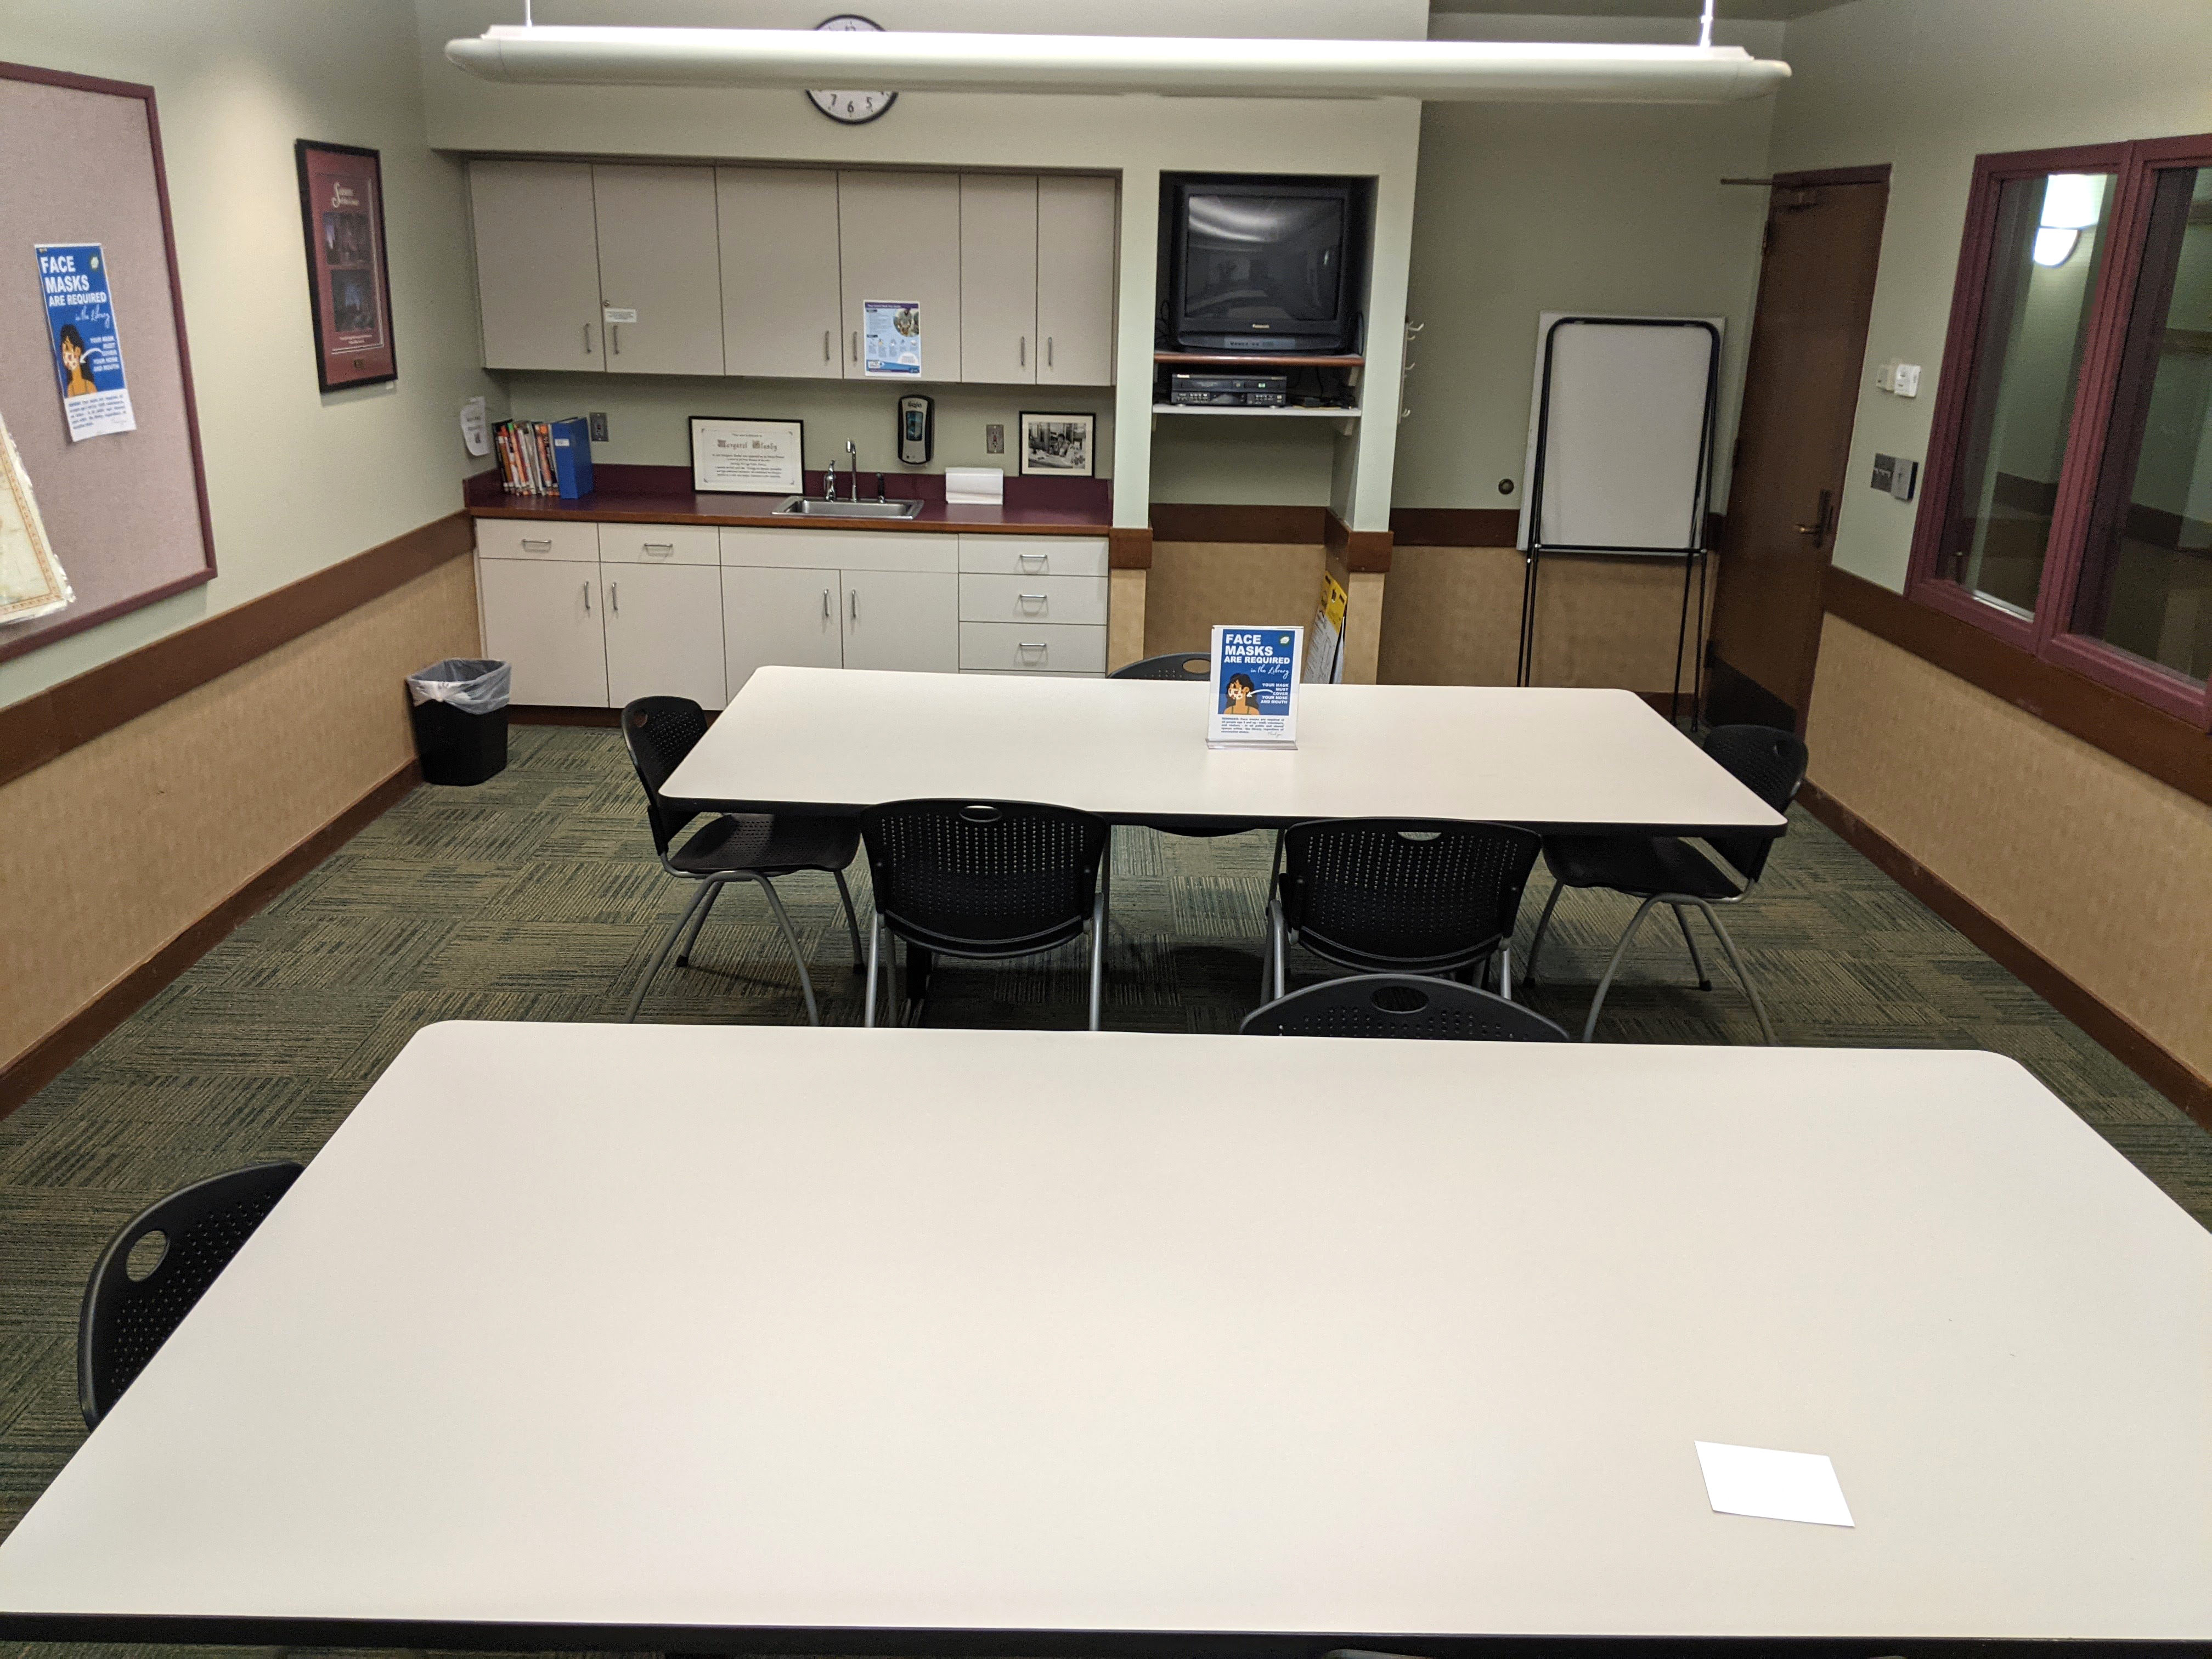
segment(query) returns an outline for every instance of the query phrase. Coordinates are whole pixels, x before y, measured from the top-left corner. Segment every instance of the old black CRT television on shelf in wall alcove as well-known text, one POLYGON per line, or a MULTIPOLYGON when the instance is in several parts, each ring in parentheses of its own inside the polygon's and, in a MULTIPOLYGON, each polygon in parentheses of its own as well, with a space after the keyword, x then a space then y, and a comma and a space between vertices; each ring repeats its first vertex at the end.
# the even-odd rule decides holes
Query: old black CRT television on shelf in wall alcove
POLYGON ((1177 179, 1164 250, 1172 349, 1352 349, 1358 219, 1352 179, 1177 179))

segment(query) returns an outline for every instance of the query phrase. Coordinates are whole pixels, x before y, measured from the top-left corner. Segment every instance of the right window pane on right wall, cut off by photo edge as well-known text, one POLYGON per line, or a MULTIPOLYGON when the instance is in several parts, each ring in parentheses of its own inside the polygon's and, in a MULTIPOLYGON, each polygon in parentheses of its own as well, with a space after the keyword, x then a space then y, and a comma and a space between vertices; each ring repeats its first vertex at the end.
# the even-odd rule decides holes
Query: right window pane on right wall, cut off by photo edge
POLYGON ((2157 175, 2073 630, 2212 675, 2212 168, 2157 175))

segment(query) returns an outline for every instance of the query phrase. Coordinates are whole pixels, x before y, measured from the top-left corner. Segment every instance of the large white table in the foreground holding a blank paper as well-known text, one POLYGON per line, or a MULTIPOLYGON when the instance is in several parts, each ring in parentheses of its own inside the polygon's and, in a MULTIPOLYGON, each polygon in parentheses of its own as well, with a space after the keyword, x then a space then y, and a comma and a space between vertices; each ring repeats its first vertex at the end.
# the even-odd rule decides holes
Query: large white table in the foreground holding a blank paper
POLYGON ((2203 1644, 2208 1378, 2212 1234, 1995 1055, 442 1024, 0 1637, 2203 1644))

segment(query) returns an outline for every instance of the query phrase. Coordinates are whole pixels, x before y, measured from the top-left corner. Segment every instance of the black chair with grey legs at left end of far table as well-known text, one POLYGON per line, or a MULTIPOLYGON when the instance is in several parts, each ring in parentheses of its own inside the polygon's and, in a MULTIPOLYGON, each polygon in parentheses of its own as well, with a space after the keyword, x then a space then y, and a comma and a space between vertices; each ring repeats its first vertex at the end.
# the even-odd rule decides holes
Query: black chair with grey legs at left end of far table
POLYGON ((792 931, 792 918, 776 896, 774 878, 792 876, 801 869, 818 869, 836 878, 836 896, 845 902, 845 931, 852 933, 852 971, 858 973, 860 922, 852 914, 852 889, 845 887, 845 865, 860 852, 860 825, 849 816, 794 818, 768 812, 723 812, 710 818, 681 847, 675 847, 677 834, 692 818, 701 812, 712 812, 712 807, 697 801, 670 801, 661 794, 668 776, 692 752, 699 739, 706 737, 706 710, 690 697, 639 697, 622 710, 622 737, 630 745, 630 765, 637 768, 637 781, 646 790, 646 823, 653 825, 653 849, 661 856, 661 869, 670 876, 699 883, 692 902, 677 918, 677 925, 668 929, 661 953, 653 958, 646 978, 637 982, 628 1020, 637 1020, 637 1011, 646 1006, 646 987, 661 971, 661 962, 675 949, 684 925, 690 922, 690 938, 684 940, 677 967, 690 964, 692 945, 699 942, 699 929, 706 927, 706 916, 714 909, 714 900, 721 898, 721 889, 734 880, 750 880, 759 883, 768 896, 768 909, 776 914, 776 925, 783 929, 783 938, 792 947, 792 960, 799 964, 799 989, 807 1000, 807 1024, 818 1026, 823 1020, 814 1006, 814 980, 807 975, 807 956, 799 949, 799 933, 792 931))

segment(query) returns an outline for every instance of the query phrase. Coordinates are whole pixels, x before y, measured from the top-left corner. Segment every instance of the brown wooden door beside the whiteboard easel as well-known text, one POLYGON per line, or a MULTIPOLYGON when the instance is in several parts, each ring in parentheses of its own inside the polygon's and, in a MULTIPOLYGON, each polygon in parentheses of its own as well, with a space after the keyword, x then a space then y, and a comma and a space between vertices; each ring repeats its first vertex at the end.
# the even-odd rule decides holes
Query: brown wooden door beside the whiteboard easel
POLYGON ((1776 179, 1736 425, 1705 717, 1805 728, 1882 250, 1880 173, 1776 179))

